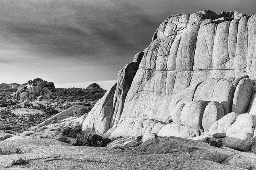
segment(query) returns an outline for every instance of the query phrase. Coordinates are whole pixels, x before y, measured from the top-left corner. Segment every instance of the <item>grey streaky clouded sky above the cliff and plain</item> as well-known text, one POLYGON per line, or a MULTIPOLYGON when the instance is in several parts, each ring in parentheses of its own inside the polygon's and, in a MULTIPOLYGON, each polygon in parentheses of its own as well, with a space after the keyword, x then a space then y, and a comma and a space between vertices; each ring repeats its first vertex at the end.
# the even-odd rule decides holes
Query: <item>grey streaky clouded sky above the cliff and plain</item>
POLYGON ((256 0, 0 0, 0 83, 108 90, 168 16, 255 9, 256 0))

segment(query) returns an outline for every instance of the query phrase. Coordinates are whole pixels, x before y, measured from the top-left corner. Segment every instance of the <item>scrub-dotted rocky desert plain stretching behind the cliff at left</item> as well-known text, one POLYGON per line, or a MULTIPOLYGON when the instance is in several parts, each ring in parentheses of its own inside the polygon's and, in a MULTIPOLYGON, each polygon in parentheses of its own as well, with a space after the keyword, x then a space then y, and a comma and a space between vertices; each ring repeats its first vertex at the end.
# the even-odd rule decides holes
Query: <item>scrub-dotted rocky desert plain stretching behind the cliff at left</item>
MULTIPOLYGON (((53 95, 49 99, 18 100, 17 84, 0 84, 0 89, 0 139, 5 135, 15 137, 31 134, 30 131, 36 125, 74 105, 86 106, 90 111, 106 93, 98 84, 91 84, 86 89, 54 87, 53 95), (49 108, 54 111, 47 112, 49 108)), ((73 114, 72 111, 70 114, 73 114)))

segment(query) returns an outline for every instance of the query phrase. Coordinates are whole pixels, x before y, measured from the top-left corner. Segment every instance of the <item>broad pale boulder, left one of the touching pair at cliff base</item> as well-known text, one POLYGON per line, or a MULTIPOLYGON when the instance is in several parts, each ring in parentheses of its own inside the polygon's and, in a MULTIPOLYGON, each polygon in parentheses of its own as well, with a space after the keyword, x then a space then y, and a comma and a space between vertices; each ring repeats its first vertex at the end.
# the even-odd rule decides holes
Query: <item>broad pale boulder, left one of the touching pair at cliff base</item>
POLYGON ((203 131, 202 118, 208 104, 209 101, 202 100, 188 102, 180 113, 182 125, 203 131))

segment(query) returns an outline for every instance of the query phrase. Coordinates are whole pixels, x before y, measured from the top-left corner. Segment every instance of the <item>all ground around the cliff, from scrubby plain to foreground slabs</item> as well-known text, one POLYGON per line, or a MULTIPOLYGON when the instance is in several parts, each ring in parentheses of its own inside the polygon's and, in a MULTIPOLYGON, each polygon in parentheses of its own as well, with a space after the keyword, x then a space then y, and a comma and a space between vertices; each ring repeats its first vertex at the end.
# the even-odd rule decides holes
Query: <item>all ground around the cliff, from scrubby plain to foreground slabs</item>
POLYGON ((106 147, 73 146, 76 137, 64 135, 63 129, 69 123, 83 122, 102 98, 105 91, 95 87, 54 88, 53 97, 30 100, 17 100, 12 90, 4 90, 0 97, 0 169, 256 170, 253 151, 213 147, 202 142, 207 136, 184 139, 156 135, 149 140, 146 135, 142 139, 120 136, 106 147), (81 107, 86 113, 74 115, 81 107), (13 164, 19 160, 18 165, 13 164))

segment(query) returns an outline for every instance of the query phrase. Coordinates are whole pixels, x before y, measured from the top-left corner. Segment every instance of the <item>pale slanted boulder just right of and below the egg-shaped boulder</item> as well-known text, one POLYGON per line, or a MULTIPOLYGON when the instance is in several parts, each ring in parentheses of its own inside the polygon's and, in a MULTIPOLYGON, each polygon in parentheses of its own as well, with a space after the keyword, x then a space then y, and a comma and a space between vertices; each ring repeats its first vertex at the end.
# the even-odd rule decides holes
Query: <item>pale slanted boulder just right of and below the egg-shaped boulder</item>
POLYGON ((209 129, 209 134, 216 138, 226 137, 226 131, 230 125, 235 122, 238 115, 239 114, 235 112, 228 113, 218 121, 214 122, 209 129))

